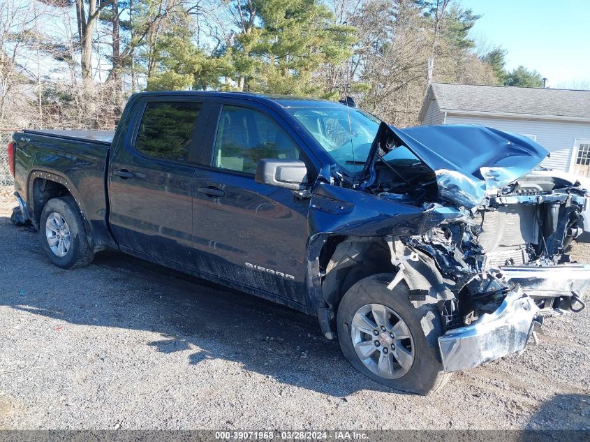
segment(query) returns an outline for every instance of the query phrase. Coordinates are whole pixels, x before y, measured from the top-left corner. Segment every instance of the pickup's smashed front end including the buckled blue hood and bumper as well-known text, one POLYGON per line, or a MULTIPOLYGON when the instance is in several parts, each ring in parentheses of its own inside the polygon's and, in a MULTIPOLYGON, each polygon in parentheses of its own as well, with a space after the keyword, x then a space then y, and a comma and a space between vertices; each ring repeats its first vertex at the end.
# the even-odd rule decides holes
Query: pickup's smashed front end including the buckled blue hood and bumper
POLYGON ((570 263, 567 251, 590 227, 590 198, 579 183, 526 175, 546 156, 543 147, 475 126, 390 135, 385 145, 407 147, 419 159, 412 165, 419 179, 385 164, 394 148, 382 143, 387 167, 369 155, 360 187, 383 200, 420 204, 434 219, 447 207, 457 211, 420 235, 387 238, 397 269, 389 288, 404 281, 412 302, 438 304, 445 371, 523 351, 545 316, 584 308, 590 265, 570 263), (441 153, 425 147, 434 140, 452 140, 451 154, 448 145, 441 153), (468 151, 474 159, 459 165, 468 151))

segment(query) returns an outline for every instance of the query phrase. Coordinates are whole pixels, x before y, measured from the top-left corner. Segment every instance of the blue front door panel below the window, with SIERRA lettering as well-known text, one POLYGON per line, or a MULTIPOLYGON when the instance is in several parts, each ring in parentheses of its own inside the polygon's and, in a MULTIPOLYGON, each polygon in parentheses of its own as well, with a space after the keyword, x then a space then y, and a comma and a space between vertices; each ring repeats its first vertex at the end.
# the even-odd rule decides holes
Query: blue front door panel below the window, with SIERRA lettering
POLYGON ((307 209, 293 192, 254 182, 253 177, 200 170, 195 205, 207 205, 207 221, 193 223, 196 244, 207 255, 205 272, 305 304, 307 209))

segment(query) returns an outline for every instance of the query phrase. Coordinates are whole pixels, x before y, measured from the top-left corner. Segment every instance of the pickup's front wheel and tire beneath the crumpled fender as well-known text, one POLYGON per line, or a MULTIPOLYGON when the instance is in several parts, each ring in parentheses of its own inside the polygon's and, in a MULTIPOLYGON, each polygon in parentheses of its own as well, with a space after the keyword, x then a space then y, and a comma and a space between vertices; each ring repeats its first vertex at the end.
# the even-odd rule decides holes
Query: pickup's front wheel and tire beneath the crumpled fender
MULTIPOLYGON (((438 354, 438 337, 443 334, 438 309, 436 304, 423 302, 415 307, 408 298, 408 286, 403 282, 398 283, 393 290, 388 290, 387 286, 392 279, 392 274, 375 274, 361 279, 345 293, 337 314, 338 339, 342 353, 355 369, 378 383, 418 395, 434 393, 442 388, 451 376, 451 374, 443 373, 443 364, 438 354), (374 316, 373 307, 370 304, 385 307, 382 311, 385 312, 385 322, 389 323, 385 326, 394 332, 393 334, 383 332, 378 325, 379 321, 371 322, 374 316), (368 312, 364 313, 365 311, 368 312), (355 316, 357 314, 359 316, 355 316), (362 317, 369 318, 369 322, 359 321, 362 317), (374 325, 367 325, 369 323, 376 325, 376 330, 372 330, 372 336, 360 332, 360 328, 365 325, 366 331, 370 332, 374 325), (391 324, 393 326, 390 328, 391 324), (379 333, 378 336, 374 336, 376 331, 379 333), (392 339, 385 335, 389 335, 392 339), (365 362, 362 362, 357 354, 355 341, 360 343, 357 348, 361 353, 365 349, 367 352, 372 352, 365 362), (375 341, 381 344, 375 344, 375 341), (371 348, 369 345, 371 343, 376 348, 371 348), (386 349, 387 355, 384 353, 386 349), (411 362, 409 362, 408 353, 411 353, 413 357, 411 362), (399 358, 404 360, 405 368, 397 362, 396 355, 405 355, 404 358, 399 358), (389 365, 384 362, 383 367, 392 368, 379 371, 381 358, 387 361, 386 357, 393 359, 390 359, 392 362, 389 362, 389 365), (380 373, 388 374, 388 376, 382 376, 380 373)), ((375 307, 377 313, 381 307, 375 307)), ((381 316, 381 313, 378 316, 381 316)))

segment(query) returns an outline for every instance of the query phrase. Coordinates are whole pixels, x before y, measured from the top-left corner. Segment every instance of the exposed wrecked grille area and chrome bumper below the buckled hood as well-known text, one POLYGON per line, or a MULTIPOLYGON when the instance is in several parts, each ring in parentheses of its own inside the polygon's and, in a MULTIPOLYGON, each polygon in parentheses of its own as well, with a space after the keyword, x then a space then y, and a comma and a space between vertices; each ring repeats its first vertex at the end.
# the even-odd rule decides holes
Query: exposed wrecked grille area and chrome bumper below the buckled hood
POLYGON ((561 191, 545 196, 547 202, 530 204, 528 198, 502 204, 490 198, 423 235, 388 240, 397 267, 388 288, 404 281, 412 302, 438 304, 445 371, 522 351, 544 316, 584 308, 590 265, 569 263, 565 251, 580 231, 587 198, 561 191))

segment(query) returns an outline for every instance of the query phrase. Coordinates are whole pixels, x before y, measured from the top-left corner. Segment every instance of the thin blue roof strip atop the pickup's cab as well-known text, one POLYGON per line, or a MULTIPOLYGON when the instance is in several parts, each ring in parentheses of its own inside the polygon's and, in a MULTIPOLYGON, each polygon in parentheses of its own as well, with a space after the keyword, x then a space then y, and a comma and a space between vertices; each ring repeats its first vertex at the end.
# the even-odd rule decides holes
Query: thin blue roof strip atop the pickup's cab
POLYGON ((343 104, 337 101, 322 100, 320 98, 297 97, 292 95, 253 94, 251 92, 230 92, 230 91, 151 91, 139 92, 141 95, 183 95, 183 96, 211 96, 242 98, 260 103, 278 104, 282 108, 332 108, 340 107, 343 104))

